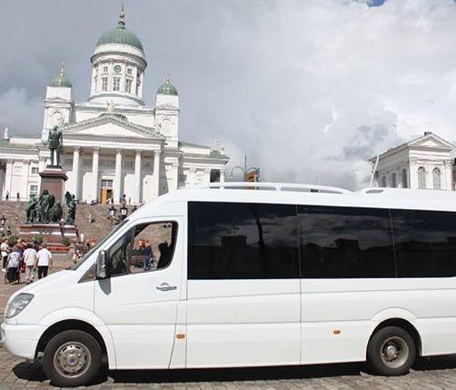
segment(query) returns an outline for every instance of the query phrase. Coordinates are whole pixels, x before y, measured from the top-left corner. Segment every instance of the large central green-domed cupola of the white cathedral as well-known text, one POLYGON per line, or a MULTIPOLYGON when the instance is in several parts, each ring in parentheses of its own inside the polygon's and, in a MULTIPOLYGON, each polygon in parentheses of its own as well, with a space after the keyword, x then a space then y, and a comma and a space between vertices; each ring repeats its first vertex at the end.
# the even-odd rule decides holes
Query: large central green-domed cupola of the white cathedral
POLYGON ((125 27, 124 6, 115 28, 98 39, 92 62, 89 101, 117 106, 144 105, 143 83, 147 67, 140 39, 125 27))

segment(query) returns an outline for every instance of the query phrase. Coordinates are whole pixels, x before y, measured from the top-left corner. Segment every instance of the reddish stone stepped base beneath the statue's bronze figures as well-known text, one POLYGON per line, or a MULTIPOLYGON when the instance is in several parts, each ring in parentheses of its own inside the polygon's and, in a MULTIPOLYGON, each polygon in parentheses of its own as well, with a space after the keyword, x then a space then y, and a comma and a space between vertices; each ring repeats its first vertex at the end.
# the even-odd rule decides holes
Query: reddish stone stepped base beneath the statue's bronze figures
POLYGON ((74 225, 58 224, 23 224, 20 226, 19 238, 31 243, 34 235, 43 235, 43 242, 50 248, 66 248, 62 244, 64 237, 68 238, 72 244, 79 243, 79 232, 74 225))

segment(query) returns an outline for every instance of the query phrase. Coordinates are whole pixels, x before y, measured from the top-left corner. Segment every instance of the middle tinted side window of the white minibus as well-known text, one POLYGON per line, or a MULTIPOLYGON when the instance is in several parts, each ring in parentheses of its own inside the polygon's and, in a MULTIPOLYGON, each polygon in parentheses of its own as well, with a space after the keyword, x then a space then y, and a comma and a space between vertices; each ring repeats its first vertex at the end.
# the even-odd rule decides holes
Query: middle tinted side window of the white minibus
POLYGON ((298 206, 302 277, 394 277, 388 210, 298 206))

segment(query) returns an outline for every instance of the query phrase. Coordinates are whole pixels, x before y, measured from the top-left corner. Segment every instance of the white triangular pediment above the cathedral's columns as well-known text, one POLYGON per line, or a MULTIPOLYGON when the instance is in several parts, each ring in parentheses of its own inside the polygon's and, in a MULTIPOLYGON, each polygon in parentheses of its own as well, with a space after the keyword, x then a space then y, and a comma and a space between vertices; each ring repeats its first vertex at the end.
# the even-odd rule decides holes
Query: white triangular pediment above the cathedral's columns
POLYGON ((135 125, 120 116, 109 114, 65 125, 62 130, 68 136, 164 139, 152 127, 135 125))

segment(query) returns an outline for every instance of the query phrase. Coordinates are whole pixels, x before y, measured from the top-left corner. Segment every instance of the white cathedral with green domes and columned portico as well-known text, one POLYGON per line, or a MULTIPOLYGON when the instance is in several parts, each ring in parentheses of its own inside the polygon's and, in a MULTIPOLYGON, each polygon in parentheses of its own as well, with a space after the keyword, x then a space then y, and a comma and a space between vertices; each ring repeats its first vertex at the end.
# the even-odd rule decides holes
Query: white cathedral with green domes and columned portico
POLYGON ((124 13, 106 31, 91 57, 90 95, 75 102, 60 74, 47 86, 41 138, 0 139, 0 195, 27 200, 40 192, 39 172, 49 161, 50 129, 64 135, 65 190, 87 202, 122 198, 137 205, 185 185, 224 180, 223 147, 179 140, 179 95, 166 79, 154 105, 144 103, 147 61, 141 41, 125 28, 124 13))

